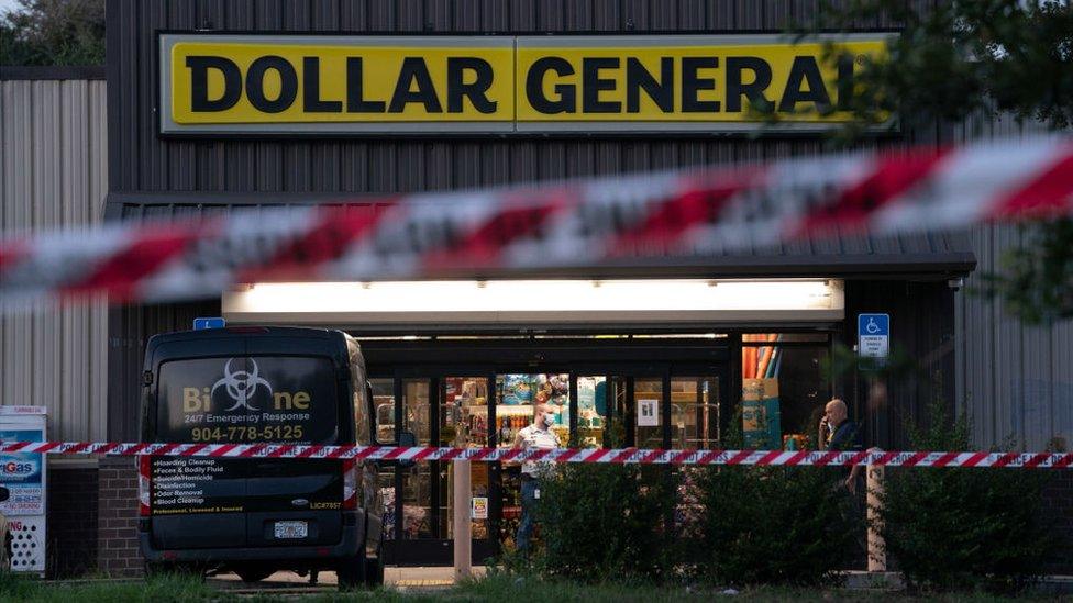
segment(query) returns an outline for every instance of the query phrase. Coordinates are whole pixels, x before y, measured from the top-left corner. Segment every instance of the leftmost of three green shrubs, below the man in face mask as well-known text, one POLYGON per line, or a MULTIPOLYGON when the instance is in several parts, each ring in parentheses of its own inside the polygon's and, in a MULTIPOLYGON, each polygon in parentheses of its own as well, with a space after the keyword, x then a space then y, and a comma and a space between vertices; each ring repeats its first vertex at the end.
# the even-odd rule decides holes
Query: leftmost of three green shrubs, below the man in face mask
POLYGON ((675 500, 672 480, 657 466, 560 467, 541 483, 534 568, 587 582, 666 577, 673 565, 664 529, 675 500))

